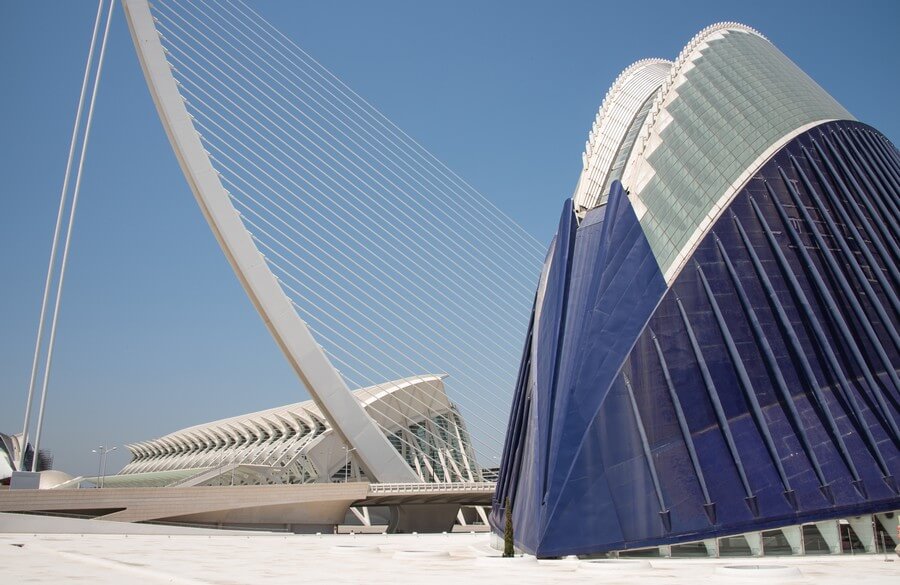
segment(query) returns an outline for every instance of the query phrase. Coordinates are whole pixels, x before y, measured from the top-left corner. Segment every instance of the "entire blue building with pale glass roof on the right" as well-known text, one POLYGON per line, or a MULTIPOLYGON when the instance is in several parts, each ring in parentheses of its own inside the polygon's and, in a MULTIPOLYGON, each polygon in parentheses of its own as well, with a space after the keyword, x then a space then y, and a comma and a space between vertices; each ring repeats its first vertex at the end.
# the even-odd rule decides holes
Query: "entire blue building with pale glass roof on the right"
POLYGON ((767 531, 802 549, 806 525, 835 546, 847 522, 867 547, 893 536, 897 148, 721 23, 622 72, 583 162, 535 295, 494 531, 511 508, 540 557, 733 535, 752 550, 767 531))

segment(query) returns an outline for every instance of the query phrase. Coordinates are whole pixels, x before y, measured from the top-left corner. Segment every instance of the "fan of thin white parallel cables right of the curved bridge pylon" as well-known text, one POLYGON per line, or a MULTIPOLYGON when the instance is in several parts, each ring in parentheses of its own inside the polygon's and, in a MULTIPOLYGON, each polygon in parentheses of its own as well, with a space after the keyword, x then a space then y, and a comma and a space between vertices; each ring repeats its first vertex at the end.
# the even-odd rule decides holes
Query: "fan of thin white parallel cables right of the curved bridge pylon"
MULTIPOLYGON (((151 7, 223 186, 348 385, 448 374, 495 465, 544 246, 245 3, 151 7)), ((447 443, 431 423, 386 430, 419 452, 447 443)))

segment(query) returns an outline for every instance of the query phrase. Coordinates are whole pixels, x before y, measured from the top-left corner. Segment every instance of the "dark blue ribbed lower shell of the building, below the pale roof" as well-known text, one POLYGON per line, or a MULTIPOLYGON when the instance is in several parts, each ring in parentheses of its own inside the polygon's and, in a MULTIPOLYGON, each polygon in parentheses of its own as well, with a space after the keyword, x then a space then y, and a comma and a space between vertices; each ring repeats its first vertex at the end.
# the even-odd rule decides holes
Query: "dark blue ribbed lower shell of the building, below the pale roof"
POLYGON ((900 155, 829 122, 744 185, 670 286, 622 185, 568 202, 491 514, 538 556, 900 508, 900 155))

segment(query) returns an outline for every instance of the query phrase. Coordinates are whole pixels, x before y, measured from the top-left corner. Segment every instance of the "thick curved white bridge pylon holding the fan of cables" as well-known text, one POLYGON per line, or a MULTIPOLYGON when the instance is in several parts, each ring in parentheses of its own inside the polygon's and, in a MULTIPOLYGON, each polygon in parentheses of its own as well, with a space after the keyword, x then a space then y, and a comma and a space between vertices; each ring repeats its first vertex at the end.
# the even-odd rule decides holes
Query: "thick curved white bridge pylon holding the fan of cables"
POLYGON ((291 367, 331 423, 380 482, 417 482, 316 343, 253 244, 194 128, 172 76, 147 0, 123 0, 147 87, 185 178, 238 280, 291 367))

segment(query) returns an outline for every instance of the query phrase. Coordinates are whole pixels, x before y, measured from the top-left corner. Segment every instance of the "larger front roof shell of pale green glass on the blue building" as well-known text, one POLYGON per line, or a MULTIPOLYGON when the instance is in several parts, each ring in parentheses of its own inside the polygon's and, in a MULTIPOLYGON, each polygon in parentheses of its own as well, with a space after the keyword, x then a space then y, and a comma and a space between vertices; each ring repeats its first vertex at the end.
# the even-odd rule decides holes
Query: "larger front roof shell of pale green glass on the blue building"
POLYGON ((622 176, 667 282, 765 159, 811 125, 854 119, 764 37, 715 25, 672 67, 622 176))

